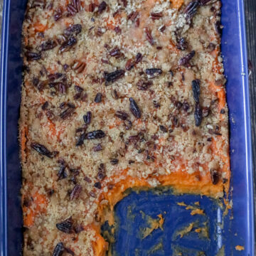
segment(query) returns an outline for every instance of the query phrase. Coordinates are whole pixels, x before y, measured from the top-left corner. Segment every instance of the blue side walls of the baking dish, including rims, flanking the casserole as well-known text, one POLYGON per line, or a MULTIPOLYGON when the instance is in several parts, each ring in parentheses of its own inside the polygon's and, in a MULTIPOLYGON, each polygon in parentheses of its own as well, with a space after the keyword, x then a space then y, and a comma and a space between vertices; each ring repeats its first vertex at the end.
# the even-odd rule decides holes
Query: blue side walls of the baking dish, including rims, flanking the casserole
MULTIPOLYGON (((0 224, 3 255, 16 255, 21 251, 22 244, 21 208, 18 197, 21 171, 18 167, 17 140, 22 61, 19 57, 21 38, 18 35, 21 32, 25 6, 26 1, 6 2, 4 6, 1 58, 0 224)), ((225 1, 222 21, 225 26, 222 52, 225 74, 228 77, 227 97, 230 109, 230 154, 233 174, 233 220, 228 221, 229 225, 225 225, 224 228, 227 238, 225 247, 228 248, 227 255, 238 253, 235 245, 244 246, 246 254, 254 255, 250 114, 242 1, 225 1)))

